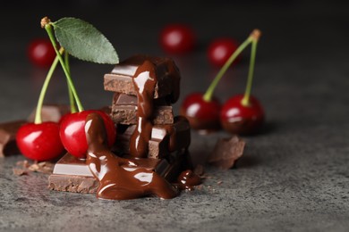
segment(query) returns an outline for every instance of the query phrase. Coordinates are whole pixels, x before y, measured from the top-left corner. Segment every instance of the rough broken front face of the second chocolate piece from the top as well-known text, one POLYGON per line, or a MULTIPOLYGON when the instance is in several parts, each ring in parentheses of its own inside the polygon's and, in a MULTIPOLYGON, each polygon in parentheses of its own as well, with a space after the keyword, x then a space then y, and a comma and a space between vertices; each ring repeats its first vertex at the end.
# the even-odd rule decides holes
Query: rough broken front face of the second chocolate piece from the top
MULTIPOLYGON (((137 123, 137 105, 113 105, 110 117, 116 124, 136 124, 137 123)), ((156 106, 153 111, 153 124, 172 124, 174 123, 174 112, 172 106, 156 106)))

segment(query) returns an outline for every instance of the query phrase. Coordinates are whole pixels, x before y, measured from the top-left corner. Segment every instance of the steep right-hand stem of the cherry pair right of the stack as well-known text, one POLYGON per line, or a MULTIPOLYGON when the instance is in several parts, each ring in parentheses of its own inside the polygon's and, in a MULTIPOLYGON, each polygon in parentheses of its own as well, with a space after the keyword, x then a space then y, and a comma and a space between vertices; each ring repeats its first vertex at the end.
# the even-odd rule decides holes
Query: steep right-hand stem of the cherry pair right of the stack
POLYGON ((250 95, 251 95, 251 88, 252 88, 254 64, 256 61, 257 44, 258 44, 258 40, 260 37, 260 31, 258 31, 258 33, 259 33, 258 36, 253 37, 253 39, 252 39, 249 73, 248 73, 248 77, 247 77, 245 94, 243 95, 243 100, 241 102, 241 104, 243 104, 243 106, 250 105, 250 95))

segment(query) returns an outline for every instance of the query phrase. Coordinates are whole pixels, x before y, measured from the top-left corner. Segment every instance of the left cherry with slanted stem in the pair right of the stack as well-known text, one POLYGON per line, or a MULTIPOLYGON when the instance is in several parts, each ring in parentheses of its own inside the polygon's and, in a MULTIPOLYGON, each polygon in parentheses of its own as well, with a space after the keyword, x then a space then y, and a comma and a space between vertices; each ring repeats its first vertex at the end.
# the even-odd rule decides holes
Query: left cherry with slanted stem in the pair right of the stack
POLYGON ((221 104, 217 98, 213 97, 213 92, 229 66, 250 43, 251 37, 248 37, 241 46, 237 47, 223 67, 218 71, 217 76, 213 79, 204 95, 194 93, 184 98, 180 113, 189 120, 193 129, 209 132, 220 128, 221 104))

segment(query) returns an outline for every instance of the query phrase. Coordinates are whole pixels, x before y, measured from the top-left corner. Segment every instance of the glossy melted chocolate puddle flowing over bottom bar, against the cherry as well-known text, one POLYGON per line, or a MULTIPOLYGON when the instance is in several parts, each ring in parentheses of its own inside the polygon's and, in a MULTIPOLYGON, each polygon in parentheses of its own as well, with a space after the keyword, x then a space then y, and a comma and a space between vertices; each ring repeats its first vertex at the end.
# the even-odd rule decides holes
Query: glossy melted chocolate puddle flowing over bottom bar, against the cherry
POLYGON ((153 170, 140 168, 137 160, 111 153, 106 145, 106 128, 98 113, 90 113, 85 125, 89 145, 87 164, 98 179, 97 196, 103 199, 127 200, 146 195, 170 199, 178 190, 153 170))

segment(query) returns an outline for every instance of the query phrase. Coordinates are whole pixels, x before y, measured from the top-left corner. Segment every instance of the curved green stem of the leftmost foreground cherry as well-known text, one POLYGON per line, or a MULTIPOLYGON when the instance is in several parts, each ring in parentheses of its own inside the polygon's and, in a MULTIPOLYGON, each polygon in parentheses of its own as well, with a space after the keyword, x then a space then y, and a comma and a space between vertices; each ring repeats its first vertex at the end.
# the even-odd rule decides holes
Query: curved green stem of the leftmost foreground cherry
MULTIPOLYGON (((59 54, 62 54, 63 52, 64 52, 64 49, 61 48, 59 50, 59 54)), ((47 87, 48 87, 48 84, 50 83, 50 80, 51 80, 53 74, 54 74, 55 68, 57 67, 58 61, 59 61, 58 56, 56 55, 54 62, 52 62, 52 64, 51 64, 51 68, 47 72, 47 77, 44 81, 44 84, 41 87, 41 92, 40 92, 40 95, 38 96, 37 110, 35 112, 35 119, 34 119, 35 124, 40 124, 42 122, 42 118, 41 118, 42 105, 44 104, 44 98, 45 98, 45 95, 47 92, 47 87)))

